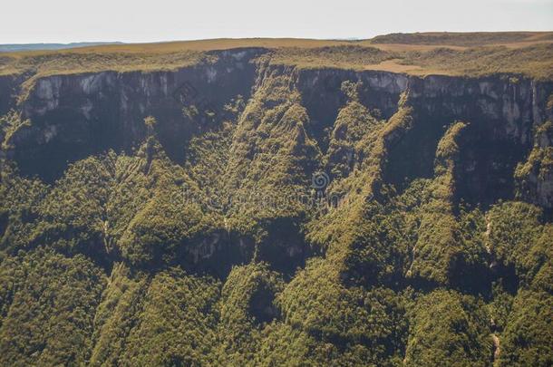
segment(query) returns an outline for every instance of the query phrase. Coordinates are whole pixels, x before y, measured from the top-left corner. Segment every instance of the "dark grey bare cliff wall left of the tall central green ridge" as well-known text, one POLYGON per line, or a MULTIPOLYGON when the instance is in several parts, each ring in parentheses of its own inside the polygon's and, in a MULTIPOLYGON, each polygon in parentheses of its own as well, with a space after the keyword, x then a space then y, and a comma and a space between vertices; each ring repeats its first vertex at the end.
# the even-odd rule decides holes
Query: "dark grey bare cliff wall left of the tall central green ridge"
POLYGON ((131 150, 146 133, 146 116, 159 121, 160 141, 182 159, 191 135, 209 120, 191 121, 184 107, 216 112, 238 94, 247 98, 259 50, 218 53, 218 61, 167 72, 98 72, 38 79, 21 103, 33 126, 15 137, 15 159, 26 173, 53 179, 66 161, 106 149, 131 150))

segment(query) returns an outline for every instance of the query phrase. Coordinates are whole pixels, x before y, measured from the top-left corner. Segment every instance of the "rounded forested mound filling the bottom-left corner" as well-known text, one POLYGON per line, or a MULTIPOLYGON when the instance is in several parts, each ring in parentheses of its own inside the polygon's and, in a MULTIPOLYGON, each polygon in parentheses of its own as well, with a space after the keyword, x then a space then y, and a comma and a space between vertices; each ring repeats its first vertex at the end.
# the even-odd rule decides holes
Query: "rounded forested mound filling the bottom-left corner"
POLYGON ((84 256, 38 248, 2 261, 0 363, 87 361, 105 275, 84 256), (8 307, 9 305, 9 307, 8 307))

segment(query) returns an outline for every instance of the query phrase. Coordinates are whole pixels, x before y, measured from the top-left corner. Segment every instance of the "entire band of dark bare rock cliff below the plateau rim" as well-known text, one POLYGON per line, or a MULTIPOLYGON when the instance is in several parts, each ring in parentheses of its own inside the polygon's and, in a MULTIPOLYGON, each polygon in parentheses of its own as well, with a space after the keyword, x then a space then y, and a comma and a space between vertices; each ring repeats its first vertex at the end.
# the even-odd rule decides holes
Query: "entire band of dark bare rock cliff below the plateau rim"
MULTIPOLYGON (((224 105, 245 100, 269 72, 287 74, 301 95, 311 131, 325 150, 325 129, 333 126, 346 97, 342 82, 361 82, 361 103, 388 119, 403 97, 413 108, 412 128, 393 145, 384 177, 398 188, 432 175, 433 154, 447 126, 464 121, 456 192, 471 202, 491 203, 513 196, 513 173, 534 146, 535 130, 551 119, 547 109, 553 83, 509 76, 425 78, 392 72, 337 69, 299 70, 255 63, 260 49, 217 53, 218 61, 177 71, 98 72, 56 75, 36 81, 18 108, 32 121, 17 131, 11 151, 20 169, 55 179, 67 161, 107 149, 131 150, 146 133, 146 116, 159 121, 160 142, 171 159, 181 161, 190 137, 224 120, 224 105), (209 111, 190 116, 189 107, 209 111), (185 109, 183 113, 183 109, 185 109)), ((0 111, 14 106, 12 80, 0 79, 0 111)), ((540 182, 529 201, 551 208, 551 184, 540 182), (548 192, 543 192, 543 191, 548 192)))

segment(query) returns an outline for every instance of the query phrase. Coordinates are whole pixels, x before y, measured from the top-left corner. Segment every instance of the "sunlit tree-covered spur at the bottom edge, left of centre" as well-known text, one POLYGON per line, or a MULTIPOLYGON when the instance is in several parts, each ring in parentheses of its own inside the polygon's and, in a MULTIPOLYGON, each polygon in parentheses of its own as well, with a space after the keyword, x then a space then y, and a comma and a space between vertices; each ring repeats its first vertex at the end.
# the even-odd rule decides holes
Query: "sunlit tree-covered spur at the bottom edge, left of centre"
POLYGON ((151 279, 128 334, 122 364, 191 365, 209 363, 216 334, 214 305, 218 282, 170 269, 151 279))

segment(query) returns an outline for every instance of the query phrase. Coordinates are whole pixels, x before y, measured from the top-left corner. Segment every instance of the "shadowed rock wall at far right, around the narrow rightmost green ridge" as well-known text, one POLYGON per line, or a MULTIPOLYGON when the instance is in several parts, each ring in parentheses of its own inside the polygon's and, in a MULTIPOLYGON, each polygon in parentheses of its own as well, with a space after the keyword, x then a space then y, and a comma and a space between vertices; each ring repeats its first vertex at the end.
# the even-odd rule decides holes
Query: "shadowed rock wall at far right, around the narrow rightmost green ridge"
MULTIPOLYGON (((457 197, 483 204, 512 198, 514 170, 529 155, 535 130, 548 118, 545 101, 550 92, 550 83, 509 77, 413 78, 409 99, 417 116, 415 124, 420 121, 421 126, 415 136, 427 140, 427 144, 412 140, 408 145, 415 151, 422 150, 422 161, 429 164, 421 169, 430 172, 432 149, 443 126, 453 121, 467 122, 455 172, 457 197)), ((420 162, 408 154, 404 157, 412 157, 411 167, 420 162)))

